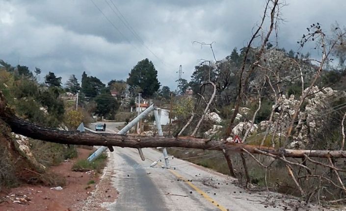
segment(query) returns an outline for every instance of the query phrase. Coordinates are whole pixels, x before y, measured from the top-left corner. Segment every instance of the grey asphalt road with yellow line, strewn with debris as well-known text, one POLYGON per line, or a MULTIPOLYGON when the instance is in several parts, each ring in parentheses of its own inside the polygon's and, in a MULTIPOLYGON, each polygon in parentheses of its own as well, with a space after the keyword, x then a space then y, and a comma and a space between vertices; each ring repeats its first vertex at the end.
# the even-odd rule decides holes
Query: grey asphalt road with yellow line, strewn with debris
MULTIPOLYGON (((106 123, 106 132, 115 133, 117 123, 106 123)), ((94 128, 92 128, 94 129, 94 128)), ((276 211, 283 205, 266 206, 268 193, 254 193, 233 185, 234 179, 189 162, 172 159, 176 169, 166 169, 159 150, 142 149, 142 161, 136 149, 114 148, 109 153, 108 170, 112 186, 119 191, 109 211, 276 211), (154 161, 159 163, 150 167, 154 161), (161 160, 161 161, 160 161, 161 160)), ((273 193, 269 193, 271 195, 273 193)), ((278 200, 280 201, 280 200, 278 200)))

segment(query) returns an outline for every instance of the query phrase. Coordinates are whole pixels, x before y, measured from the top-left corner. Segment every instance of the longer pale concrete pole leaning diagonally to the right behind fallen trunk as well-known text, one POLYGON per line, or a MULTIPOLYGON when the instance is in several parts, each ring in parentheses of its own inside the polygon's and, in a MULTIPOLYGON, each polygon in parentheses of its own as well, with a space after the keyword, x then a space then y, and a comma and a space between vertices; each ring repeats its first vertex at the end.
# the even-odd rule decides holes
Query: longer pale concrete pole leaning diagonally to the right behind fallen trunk
MULTIPOLYGON (((134 125, 137 124, 137 122, 139 122, 139 120, 141 120, 143 117, 147 116, 150 112, 152 112, 153 110, 155 110, 156 107, 155 105, 151 105, 149 106, 147 109, 145 109, 140 115, 138 115, 137 117, 135 117, 131 122, 129 122, 129 124, 127 124, 123 129, 121 129, 117 134, 120 135, 125 135, 134 125)), ((105 150, 107 149, 106 146, 101 146, 100 148, 98 148, 92 155, 90 155, 90 157, 88 158, 89 162, 92 162, 93 160, 95 160, 97 157, 99 157, 105 150)), ((138 153, 140 155, 140 158, 144 161, 144 156, 143 156, 143 152, 141 148, 138 148, 138 153)))

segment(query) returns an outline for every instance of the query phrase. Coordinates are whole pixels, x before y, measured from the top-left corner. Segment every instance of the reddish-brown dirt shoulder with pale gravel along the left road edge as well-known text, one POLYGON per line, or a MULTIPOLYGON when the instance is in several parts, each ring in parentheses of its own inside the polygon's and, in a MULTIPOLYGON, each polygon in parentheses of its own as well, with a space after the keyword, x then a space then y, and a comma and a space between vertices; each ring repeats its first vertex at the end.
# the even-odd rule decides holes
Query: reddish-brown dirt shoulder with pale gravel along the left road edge
POLYGON ((71 170, 78 159, 86 159, 91 152, 78 148, 78 158, 51 167, 51 172, 66 180, 61 190, 32 185, 11 188, 0 193, 0 211, 82 211, 86 210, 84 207, 92 207, 95 211, 105 210, 101 204, 117 198, 116 189, 112 188, 109 178, 105 176, 106 169, 103 175, 95 171, 71 170))

